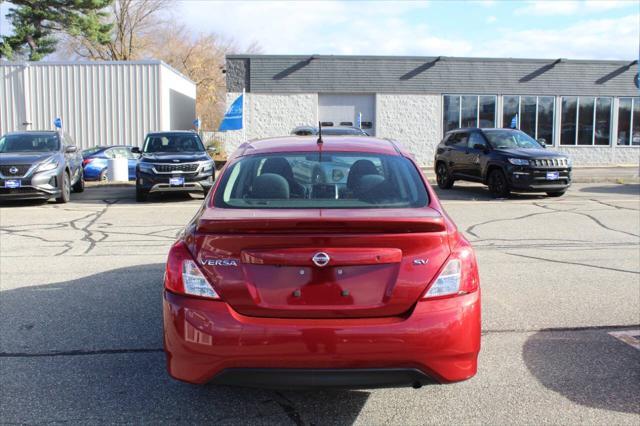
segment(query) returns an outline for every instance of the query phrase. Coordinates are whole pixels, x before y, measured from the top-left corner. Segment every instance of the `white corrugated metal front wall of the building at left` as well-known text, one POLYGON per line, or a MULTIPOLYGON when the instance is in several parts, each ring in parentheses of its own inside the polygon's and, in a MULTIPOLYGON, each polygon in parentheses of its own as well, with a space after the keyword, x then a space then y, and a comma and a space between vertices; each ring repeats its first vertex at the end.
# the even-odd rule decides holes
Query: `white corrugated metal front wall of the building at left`
POLYGON ((161 128, 161 66, 159 61, 0 64, 0 133, 52 129, 61 117, 63 130, 80 148, 140 145, 147 132, 161 128))

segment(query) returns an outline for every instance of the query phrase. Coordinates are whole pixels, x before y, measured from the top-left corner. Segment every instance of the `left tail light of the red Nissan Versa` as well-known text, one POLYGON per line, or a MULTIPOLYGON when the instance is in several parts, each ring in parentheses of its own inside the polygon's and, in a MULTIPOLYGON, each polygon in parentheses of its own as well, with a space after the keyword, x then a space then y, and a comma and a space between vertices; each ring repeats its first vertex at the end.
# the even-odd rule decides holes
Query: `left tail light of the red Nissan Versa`
POLYGON ((175 243, 169 250, 164 288, 178 294, 220 299, 182 241, 175 243))

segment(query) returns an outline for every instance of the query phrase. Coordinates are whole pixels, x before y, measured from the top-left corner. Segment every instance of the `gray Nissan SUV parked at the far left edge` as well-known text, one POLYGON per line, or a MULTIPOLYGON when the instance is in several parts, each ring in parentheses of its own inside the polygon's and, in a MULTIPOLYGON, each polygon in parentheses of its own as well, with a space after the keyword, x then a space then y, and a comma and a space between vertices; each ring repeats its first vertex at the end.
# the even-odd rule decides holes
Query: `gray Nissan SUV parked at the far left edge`
POLYGON ((66 203, 84 191, 82 156, 68 135, 8 133, 0 138, 0 200, 55 198, 66 203))

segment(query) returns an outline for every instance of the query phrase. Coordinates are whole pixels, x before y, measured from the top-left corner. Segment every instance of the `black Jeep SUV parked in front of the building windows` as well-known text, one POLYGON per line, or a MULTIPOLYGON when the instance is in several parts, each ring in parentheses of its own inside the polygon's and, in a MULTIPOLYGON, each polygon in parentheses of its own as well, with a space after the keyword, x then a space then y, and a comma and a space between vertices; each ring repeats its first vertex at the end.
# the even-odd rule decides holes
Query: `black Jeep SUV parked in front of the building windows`
POLYGON ((571 159, 512 129, 447 132, 436 150, 434 168, 442 189, 468 180, 488 185, 495 197, 507 197, 511 191, 559 197, 571 185, 571 159))

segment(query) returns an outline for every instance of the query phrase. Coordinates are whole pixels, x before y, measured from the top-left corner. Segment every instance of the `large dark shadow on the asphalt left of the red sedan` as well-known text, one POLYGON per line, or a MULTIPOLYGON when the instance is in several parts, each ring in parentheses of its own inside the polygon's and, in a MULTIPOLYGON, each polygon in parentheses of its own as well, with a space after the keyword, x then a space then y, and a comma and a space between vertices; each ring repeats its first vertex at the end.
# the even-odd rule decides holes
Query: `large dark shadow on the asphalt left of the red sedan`
POLYGON ((0 293, 3 421, 353 424, 369 393, 195 386, 162 351, 164 264, 0 293), (10 319, 10 320, 7 320, 10 319), (35 395, 46 395, 39 397, 35 395), (38 409, 33 409, 37 398, 38 409))

